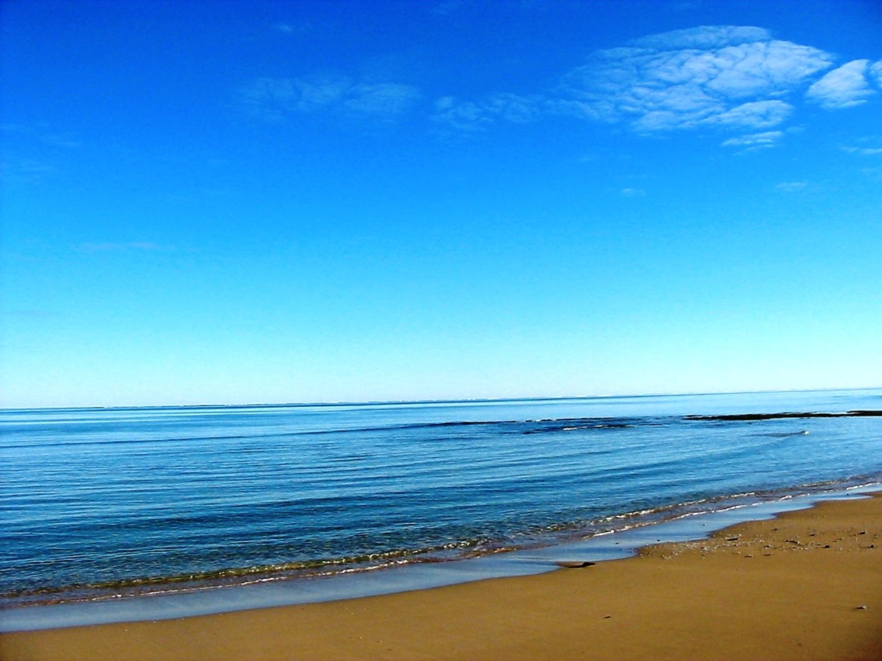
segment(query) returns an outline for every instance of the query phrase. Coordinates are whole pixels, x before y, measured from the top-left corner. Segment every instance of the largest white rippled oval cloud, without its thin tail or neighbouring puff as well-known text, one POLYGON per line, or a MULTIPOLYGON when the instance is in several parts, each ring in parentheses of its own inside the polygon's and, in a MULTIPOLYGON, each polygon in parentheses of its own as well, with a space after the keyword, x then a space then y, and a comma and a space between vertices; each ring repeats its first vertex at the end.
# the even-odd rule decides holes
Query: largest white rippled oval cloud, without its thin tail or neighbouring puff
POLYGON ((602 50, 564 78, 583 115, 653 132, 781 123, 792 93, 833 56, 759 27, 701 26, 602 50))

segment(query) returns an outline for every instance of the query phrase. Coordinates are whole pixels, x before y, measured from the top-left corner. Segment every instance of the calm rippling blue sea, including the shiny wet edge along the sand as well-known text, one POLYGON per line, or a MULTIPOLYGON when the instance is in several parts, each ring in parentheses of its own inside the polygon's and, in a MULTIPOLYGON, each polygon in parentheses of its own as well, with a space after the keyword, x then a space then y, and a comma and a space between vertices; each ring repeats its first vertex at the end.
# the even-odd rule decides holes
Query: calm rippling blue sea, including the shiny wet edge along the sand
POLYGON ((878 389, 6 409, 0 630, 620 557, 629 531, 882 484, 880 410, 878 389))

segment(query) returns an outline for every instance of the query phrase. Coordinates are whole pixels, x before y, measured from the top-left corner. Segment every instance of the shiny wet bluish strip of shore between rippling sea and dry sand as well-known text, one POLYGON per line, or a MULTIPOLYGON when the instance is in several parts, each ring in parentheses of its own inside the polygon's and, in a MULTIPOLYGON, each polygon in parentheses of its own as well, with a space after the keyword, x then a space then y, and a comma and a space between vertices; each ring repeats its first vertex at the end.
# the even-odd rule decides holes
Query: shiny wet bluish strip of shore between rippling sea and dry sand
MULTIPOLYGON (((772 518, 793 509, 811 508, 826 500, 882 491, 878 478, 869 482, 849 481, 850 484, 848 481, 839 484, 821 482, 769 492, 730 494, 652 510, 654 514, 675 513, 668 518, 644 520, 650 510, 609 516, 609 521, 624 521, 633 516, 636 523, 597 531, 584 538, 562 538, 550 544, 483 553, 471 558, 393 563, 306 576, 262 577, 256 574, 244 583, 199 585, 194 582, 191 587, 176 590, 163 589, 162 583, 156 582, 155 590, 143 592, 111 593, 42 604, 0 605, 0 634, 116 622, 174 620, 430 590, 492 578, 534 576, 573 564, 620 560, 651 544, 698 540, 735 524, 772 518), (712 503, 717 509, 689 509, 690 505, 705 507, 712 503)), ((60 594, 64 592, 60 591, 60 594)))

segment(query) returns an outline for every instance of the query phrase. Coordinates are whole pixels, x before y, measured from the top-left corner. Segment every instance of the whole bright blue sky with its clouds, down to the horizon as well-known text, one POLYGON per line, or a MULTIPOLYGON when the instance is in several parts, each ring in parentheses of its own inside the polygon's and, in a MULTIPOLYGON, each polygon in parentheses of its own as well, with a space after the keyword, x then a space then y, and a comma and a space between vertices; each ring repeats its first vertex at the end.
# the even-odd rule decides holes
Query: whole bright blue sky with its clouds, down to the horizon
POLYGON ((4 0, 0 405, 882 386, 876 0, 4 0))

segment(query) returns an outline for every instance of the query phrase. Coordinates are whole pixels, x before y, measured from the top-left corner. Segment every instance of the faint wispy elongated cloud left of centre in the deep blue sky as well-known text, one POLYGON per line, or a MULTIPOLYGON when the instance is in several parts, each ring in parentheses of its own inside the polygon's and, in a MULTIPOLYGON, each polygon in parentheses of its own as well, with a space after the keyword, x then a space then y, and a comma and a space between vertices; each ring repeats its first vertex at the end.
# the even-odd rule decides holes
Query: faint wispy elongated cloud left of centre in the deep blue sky
POLYGON ((355 80, 334 73, 258 78, 241 90, 246 107, 269 121, 328 110, 392 118, 411 108, 421 96, 411 85, 355 80))

